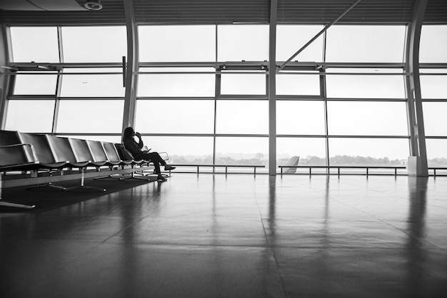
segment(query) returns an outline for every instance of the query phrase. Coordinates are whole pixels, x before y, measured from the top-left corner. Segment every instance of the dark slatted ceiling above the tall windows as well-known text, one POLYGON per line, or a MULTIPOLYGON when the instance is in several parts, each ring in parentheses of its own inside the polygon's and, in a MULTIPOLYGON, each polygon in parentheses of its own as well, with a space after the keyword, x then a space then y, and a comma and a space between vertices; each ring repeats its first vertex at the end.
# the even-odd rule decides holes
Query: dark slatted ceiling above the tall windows
MULTIPOLYGON (((76 0, 83 5, 86 0, 76 0)), ((270 0, 133 0, 139 24, 267 24, 270 0)), ((416 0, 362 0, 338 24, 407 24, 416 0)), ((328 24, 353 0, 278 0, 278 23, 328 24)), ((122 0, 99 11, 6 11, 3 24, 125 24, 122 0)), ((425 24, 447 24, 447 1, 428 0, 425 24)))

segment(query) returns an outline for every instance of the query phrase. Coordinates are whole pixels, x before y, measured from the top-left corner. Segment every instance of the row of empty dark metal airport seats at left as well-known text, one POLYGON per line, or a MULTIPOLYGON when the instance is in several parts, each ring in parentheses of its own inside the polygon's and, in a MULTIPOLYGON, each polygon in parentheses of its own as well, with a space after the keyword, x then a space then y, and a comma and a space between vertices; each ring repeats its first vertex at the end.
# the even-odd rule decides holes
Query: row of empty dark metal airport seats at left
MULTIPOLYGON (((124 167, 144 165, 150 160, 124 160, 121 144, 104 141, 52 136, 49 134, 29 134, 20 131, 0 130, 0 172, 53 171, 80 169, 87 167, 124 167)), ((84 176, 81 187, 84 186, 84 176)))

